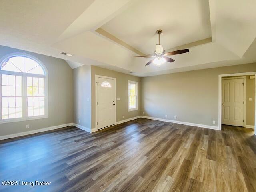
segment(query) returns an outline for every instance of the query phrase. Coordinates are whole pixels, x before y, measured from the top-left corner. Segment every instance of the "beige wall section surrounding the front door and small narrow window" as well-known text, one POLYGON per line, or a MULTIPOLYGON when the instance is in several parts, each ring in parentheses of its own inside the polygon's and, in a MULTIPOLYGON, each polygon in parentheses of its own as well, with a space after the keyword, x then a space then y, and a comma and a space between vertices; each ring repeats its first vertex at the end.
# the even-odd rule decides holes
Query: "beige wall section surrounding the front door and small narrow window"
POLYGON ((92 129, 95 128, 95 75, 116 78, 116 121, 136 117, 140 115, 140 78, 96 66, 92 66, 92 129), (128 80, 138 82, 138 110, 128 112, 128 80), (124 119, 122 118, 124 116, 124 119))

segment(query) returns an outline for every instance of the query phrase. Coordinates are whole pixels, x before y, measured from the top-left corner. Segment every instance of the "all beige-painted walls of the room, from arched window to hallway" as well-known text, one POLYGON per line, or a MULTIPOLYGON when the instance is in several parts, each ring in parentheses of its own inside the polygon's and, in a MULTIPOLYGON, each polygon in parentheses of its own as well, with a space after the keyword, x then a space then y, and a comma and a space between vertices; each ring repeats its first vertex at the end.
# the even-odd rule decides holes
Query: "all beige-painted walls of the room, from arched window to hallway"
MULTIPOLYGON (((13 52, 26 52, 0 46, 0 58, 13 52)), ((97 66, 72 70, 62 59, 26 52, 46 66, 49 78, 49 118, 0 124, 0 136, 75 122, 95 128, 95 75, 116 78, 116 121, 143 115, 156 118, 218 126, 218 75, 255 72, 256 64, 244 64, 139 78, 97 66), (73 80, 74 78, 74 80, 73 80), (138 82, 138 110, 128 112, 128 80, 138 82), (71 91, 73 90, 73 91, 71 91), (74 97, 73 97, 74 95, 74 97), (142 98, 142 99, 140 99, 142 98), (73 108, 74 106, 74 108, 73 108), (124 116, 124 119, 122 118, 124 116), (80 119, 80 123, 78 120, 80 119), (29 124, 30 128, 26 129, 29 124)), ((247 80, 247 124, 253 125, 254 80, 247 80)))

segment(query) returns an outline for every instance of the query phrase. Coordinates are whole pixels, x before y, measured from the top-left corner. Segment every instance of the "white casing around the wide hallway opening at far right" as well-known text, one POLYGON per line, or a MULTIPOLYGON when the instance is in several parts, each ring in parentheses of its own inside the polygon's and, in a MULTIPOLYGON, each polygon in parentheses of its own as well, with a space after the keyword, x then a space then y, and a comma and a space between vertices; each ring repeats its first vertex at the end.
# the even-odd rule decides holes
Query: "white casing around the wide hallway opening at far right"
MULTIPOLYGON (((219 75, 219 116, 218 116, 218 129, 221 130, 221 102, 222 102, 222 77, 230 77, 230 76, 247 76, 247 75, 255 75, 256 76, 256 72, 245 72, 245 73, 233 73, 233 74, 220 74, 219 75)), ((255 87, 256 87, 256 78, 255 78, 255 87)), ((255 98, 256 100, 256 94, 255 94, 255 98)), ((256 105, 256 104, 255 104, 256 105)), ((256 107, 256 106, 255 106, 256 107)), ((256 121, 256 111, 255 111, 255 121, 256 121)), ((256 123, 254 123, 254 134, 256 135, 256 123)))

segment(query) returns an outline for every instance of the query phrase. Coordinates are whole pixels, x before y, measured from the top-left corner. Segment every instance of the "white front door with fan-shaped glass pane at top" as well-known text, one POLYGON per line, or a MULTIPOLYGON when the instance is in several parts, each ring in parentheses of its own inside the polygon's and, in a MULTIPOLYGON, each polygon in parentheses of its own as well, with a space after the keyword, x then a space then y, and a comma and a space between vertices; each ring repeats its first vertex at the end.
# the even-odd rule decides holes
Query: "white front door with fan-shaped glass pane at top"
POLYGON ((97 130, 116 122, 116 82, 114 79, 97 77, 97 130))

